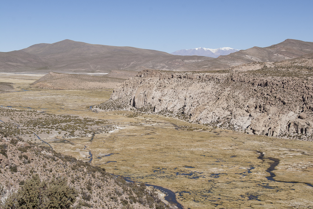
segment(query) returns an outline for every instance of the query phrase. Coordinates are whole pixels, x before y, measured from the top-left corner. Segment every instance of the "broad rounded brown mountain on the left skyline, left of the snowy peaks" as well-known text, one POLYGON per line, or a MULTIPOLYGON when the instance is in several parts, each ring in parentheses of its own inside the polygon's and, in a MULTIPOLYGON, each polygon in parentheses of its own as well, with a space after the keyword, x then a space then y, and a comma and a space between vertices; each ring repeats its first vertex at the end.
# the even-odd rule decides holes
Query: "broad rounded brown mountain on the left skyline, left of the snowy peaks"
POLYGON ((212 59, 66 39, 53 44, 35 44, 18 51, 0 52, 0 72, 193 71, 196 70, 196 63, 212 59))

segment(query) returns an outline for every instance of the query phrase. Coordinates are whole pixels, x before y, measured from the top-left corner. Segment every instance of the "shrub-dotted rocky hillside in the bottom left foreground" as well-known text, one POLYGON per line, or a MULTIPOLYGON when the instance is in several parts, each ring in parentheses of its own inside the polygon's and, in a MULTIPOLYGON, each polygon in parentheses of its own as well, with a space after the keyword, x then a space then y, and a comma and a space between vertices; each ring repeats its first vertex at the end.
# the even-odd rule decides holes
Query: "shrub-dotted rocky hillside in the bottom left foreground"
POLYGON ((0 130, 0 208, 25 208, 18 205, 39 204, 39 197, 50 207, 41 202, 42 207, 27 208, 165 208, 157 193, 144 184, 127 183, 105 169, 27 143, 22 138, 10 137, 5 130, 0 130), (43 182, 42 187, 31 184, 36 180, 43 182), (55 187, 55 183, 61 186, 55 187), (52 196, 42 195, 51 188, 52 196), (60 188, 65 191, 58 193, 60 188), (32 191, 37 190, 40 193, 31 196, 32 191), (67 207, 59 207, 64 198, 67 207))

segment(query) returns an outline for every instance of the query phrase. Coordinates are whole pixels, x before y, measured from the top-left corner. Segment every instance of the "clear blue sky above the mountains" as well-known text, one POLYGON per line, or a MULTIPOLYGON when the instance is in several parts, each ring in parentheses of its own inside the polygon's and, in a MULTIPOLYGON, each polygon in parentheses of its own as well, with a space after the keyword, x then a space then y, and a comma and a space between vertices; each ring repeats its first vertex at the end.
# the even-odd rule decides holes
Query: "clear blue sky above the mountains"
POLYGON ((313 1, 0 0, 0 51, 64 39, 171 53, 313 42, 313 1))

